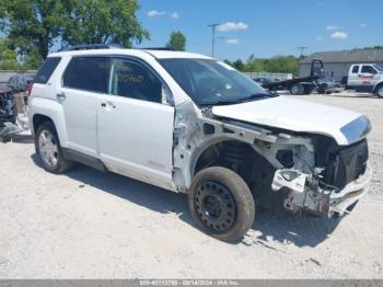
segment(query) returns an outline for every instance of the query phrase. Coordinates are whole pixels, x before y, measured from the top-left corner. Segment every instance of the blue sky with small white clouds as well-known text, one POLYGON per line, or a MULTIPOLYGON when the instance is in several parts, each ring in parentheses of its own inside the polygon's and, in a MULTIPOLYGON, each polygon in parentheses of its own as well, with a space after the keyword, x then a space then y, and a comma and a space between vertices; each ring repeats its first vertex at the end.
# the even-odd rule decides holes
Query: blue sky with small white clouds
POLYGON ((243 59, 299 56, 314 51, 383 46, 383 0, 139 0, 137 18, 150 41, 136 47, 163 47, 173 31, 188 51, 243 59))

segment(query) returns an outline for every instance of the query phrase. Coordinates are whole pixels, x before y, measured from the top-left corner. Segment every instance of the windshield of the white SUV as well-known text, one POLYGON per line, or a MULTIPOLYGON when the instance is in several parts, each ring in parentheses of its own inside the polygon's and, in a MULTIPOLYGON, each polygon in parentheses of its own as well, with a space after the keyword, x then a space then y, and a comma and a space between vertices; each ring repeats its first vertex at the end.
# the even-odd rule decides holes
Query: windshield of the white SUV
POLYGON ((232 104, 274 96, 232 67, 210 59, 160 59, 198 105, 232 104))

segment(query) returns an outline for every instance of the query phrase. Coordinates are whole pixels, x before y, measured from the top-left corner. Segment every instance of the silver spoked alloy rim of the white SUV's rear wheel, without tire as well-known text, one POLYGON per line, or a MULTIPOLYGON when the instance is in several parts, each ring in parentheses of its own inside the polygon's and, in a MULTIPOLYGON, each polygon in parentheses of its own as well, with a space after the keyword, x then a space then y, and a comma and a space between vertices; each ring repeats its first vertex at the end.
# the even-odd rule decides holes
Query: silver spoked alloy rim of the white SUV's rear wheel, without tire
POLYGON ((38 148, 43 161, 54 168, 58 162, 58 147, 54 135, 49 130, 43 130, 38 137, 38 148))

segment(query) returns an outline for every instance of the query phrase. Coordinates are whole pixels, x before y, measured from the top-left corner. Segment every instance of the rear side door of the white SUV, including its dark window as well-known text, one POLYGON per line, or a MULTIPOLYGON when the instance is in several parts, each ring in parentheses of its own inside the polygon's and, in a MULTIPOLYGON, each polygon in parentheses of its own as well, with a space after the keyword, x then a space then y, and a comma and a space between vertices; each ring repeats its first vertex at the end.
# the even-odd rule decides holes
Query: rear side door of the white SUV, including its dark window
POLYGON ((106 94, 111 59, 102 56, 73 57, 58 89, 67 129, 66 147, 97 157, 97 107, 106 94))

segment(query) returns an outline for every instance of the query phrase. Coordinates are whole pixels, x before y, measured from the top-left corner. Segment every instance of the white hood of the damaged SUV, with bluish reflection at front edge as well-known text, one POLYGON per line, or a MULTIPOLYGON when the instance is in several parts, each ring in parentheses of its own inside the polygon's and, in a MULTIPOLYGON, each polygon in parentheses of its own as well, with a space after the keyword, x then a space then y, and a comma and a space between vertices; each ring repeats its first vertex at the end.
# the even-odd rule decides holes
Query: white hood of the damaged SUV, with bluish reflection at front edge
POLYGON ((329 136, 338 145, 350 145, 370 131, 370 122, 363 115, 288 96, 213 106, 212 113, 251 124, 329 136))

